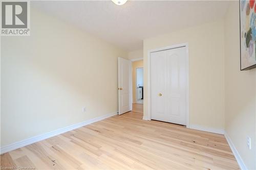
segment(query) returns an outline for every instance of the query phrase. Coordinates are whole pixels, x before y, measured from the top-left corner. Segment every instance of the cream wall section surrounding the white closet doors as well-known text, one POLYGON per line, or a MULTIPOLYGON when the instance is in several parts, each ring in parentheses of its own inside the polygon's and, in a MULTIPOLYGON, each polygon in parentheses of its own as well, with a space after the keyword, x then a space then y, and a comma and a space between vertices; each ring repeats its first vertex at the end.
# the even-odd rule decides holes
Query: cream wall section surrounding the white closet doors
POLYGON ((147 117, 147 51, 188 43, 190 125, 224 130, 224 22, 180 30, 143 41, 144 117, 147 117))

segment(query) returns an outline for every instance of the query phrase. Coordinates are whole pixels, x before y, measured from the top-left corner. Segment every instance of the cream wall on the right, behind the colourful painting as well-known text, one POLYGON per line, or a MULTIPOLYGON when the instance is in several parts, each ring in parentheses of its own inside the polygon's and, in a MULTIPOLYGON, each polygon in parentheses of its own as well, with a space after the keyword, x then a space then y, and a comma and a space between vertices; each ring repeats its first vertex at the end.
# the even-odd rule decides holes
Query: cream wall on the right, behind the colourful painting
POLYGON ((247 168, 256 169, 256 69, 240 71, 239 8, 238 2, 230 4, 225 17, 225 130, 247 168))

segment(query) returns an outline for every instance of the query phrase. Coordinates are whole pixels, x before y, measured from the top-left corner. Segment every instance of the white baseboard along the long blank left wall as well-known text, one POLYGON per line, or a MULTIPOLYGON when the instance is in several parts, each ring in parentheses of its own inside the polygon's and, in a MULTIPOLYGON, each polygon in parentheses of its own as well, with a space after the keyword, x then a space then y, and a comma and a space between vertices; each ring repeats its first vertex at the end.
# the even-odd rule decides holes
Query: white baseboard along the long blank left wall
POLYGON ((75 125, 71 125, 71 126, 61 128, 61 129, 58 129, 58 130, 55 130, 55 131, 52 131, 52 132, 48 132, 48 133, 45 133, 45 134, 42 134, 42 135, 34 136, 34 137, 29 138, 29 139, 25 139, 25 140, 22 140, 22 141, 18 141, 18 142, 9 144, 9 145, 7 145, 5 147, 2 147, 0 149, 0 154, 4 154, 6 152, 10 152, 10 151, 13 151, 13 150, 21 148, 21 147, 25 147, 26 145, 29 145, 29 144, 38 142, 40 140, 44 140, 44 139, 59 135, 61 133, 65 133, 65 132, 80 128, 82 126, 92 124, 94 122, 98 122, 99 120, 114 116, 116 114, 117 114, 117 111, 113 112, 113 113, 105 114, 103 116, 95 117, 95 118, 92 118, 90 120, 86 120, 84 122, 81 122, 81 123, 78 123, 78 124, 75 124, 75 125))

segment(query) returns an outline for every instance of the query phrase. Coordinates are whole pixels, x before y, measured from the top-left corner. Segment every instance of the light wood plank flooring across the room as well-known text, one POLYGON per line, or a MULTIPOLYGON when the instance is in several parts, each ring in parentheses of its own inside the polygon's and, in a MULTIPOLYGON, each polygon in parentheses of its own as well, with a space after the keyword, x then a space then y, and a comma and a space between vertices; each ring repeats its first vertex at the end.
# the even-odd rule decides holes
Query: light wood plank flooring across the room
POLYGON ((135 104, 132 112, 5 153, 1 155, 1 166, 36 169, 239 169, 223 135, 142 120, 142 111, 143 105, 135 104))

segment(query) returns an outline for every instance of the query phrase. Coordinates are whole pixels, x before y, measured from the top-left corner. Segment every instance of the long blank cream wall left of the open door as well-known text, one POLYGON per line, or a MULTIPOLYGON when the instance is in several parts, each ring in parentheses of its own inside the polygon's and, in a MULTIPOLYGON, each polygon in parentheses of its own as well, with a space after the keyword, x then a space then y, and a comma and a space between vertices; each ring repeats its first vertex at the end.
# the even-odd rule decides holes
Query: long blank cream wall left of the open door
POLYGON ((31 36, 1 37, 1 147, 118 109, 126 52, 31 7, 31 36))

